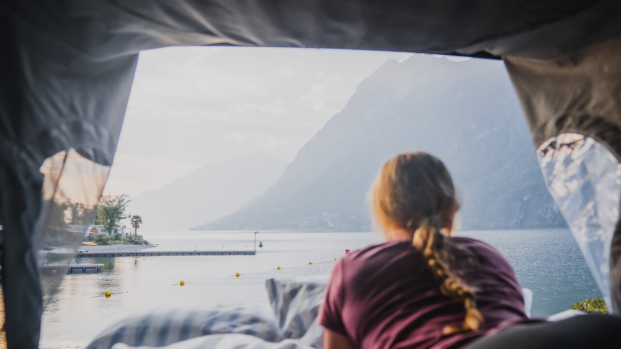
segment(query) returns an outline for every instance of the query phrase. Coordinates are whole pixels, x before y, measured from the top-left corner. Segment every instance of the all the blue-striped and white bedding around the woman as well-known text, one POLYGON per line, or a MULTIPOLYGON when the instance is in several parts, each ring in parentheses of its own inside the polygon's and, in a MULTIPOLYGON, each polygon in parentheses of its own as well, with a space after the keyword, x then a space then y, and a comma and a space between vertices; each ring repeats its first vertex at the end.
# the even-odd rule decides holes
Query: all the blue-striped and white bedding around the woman
MULTIPOLYGON (((88 349, 312 349, 329 276, 267 279, 270 304, 214 304, 135 315, 98 335, 88 349)), ((530 314, 532 291, 522 289, 530 314)), ((575 313, 572 313, 575 315, 575 313)))

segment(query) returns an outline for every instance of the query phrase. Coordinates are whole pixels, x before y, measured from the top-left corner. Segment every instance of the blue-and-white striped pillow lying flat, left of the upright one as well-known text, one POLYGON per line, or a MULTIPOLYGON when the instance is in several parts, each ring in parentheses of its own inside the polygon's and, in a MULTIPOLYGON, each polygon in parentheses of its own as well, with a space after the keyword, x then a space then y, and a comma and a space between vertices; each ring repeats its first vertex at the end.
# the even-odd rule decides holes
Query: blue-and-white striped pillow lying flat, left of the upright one
POLYGON ((163 347, 219 333, 253 335, 268 342, 284 339, 267 304, 214 304, 128 317, 100 333, 87 348, 109 349, 115 343, 163 347))

